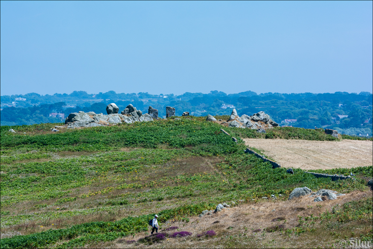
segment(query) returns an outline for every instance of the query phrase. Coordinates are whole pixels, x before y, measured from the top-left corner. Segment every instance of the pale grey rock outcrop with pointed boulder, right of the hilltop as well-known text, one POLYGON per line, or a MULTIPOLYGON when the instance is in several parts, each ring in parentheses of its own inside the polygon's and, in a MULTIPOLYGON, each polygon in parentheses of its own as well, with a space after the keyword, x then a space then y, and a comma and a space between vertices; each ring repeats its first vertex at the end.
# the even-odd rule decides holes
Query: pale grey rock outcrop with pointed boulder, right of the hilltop
POLYGON ((244 114, 240 117, 237 115, 236 109, 232 110, 232 114, 227 121, 222 121, 221 119, 216 120, 216 118, 211 115, 207 115, 206 120, 215 121, 221 125, 228 127, 256 129, 260 133, 266 133, 266 128, 279 126, 275 121, 270 119, 270 116, 268 114, 264 112, 258 112, 251 116, 244 114))

